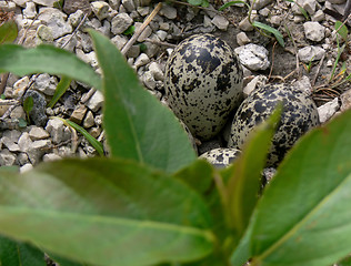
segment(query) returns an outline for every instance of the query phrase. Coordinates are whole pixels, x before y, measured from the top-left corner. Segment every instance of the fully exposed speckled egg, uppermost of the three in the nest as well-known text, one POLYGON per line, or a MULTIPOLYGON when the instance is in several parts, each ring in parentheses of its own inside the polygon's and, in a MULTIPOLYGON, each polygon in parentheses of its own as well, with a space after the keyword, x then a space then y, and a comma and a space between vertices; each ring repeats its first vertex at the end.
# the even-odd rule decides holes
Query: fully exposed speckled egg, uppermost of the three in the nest
POLYGON ((242 68, 232 49, 211 34, 180 42, 167 61, 169 106, 191 133, 209 140, 242 100, 242 68))

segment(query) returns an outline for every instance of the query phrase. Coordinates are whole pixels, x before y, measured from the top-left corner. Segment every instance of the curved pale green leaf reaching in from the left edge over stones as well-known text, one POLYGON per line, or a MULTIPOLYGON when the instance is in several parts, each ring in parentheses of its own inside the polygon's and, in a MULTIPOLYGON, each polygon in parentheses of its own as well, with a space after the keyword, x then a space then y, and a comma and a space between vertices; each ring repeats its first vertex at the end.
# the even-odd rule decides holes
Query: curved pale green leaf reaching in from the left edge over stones
POLYGON ((73 53, 49 44, 26 49, 17 44, 0 45, 0 72, 17 75, 49 73, 66 75, 101 89, 101 79, 94 70, 73 53))

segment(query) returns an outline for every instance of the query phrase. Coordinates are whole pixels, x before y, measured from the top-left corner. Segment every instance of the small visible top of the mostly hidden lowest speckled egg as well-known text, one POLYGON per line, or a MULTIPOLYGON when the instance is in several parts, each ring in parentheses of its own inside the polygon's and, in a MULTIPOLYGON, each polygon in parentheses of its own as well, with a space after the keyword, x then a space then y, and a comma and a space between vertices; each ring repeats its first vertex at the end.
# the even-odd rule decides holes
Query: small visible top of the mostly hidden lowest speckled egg
POLYGON ((207 160, 217 168, 224 168, 229 166, 240 153, 241 152, 237 149, 218 147, 201 154, 200 158, 207 160))

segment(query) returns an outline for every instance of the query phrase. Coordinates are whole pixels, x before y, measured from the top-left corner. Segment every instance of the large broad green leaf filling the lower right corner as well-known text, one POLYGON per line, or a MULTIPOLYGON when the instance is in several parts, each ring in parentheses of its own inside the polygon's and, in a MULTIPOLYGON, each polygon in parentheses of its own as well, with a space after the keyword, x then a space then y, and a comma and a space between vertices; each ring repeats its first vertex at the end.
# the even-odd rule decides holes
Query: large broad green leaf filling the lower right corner
POLYGON ((328 266, 351 253, 351 111, 287 154, 252 218, 252 265, 328 266))

